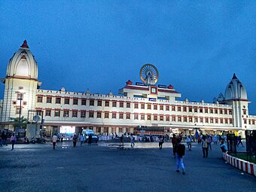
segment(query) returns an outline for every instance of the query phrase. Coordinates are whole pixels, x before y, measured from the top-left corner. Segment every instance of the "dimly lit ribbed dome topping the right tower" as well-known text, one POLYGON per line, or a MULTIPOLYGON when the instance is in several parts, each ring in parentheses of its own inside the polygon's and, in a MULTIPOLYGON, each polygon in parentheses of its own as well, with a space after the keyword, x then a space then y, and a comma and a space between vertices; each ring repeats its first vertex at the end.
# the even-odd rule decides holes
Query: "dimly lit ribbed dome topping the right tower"
POLYGON ((227 85, 225 90, 225 100, 233 99, 242 99, 247 101, 247 93, 245 87, 242 85, 239 79, 236 78, 235 74, 233 74, 233 78, 230 81, 230 84, 227 85))

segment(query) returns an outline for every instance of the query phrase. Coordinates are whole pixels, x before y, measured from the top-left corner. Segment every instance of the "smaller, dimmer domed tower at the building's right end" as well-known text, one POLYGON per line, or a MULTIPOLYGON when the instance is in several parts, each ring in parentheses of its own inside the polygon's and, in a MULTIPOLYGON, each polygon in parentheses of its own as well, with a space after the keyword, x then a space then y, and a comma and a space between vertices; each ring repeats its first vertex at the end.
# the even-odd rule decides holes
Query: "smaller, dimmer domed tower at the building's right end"
POLYGON ((235 74, 226 87, 224 102, 233 105, 233 126, 246 128, 249 103, 247 92, 235 74))

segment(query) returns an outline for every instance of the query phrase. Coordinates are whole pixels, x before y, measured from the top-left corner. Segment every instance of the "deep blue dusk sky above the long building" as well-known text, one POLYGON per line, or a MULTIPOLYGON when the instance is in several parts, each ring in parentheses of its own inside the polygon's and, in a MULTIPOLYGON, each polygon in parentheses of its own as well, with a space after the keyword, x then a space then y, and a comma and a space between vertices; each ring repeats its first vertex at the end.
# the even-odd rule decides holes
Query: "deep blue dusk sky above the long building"
POLYGON ((255 16, 256 1, 1 0, 0 77, 26 39, 44 90, 117 94, 151 63, 157 84, 197 102, 212 102, 236 73, 256 114, 255 16))

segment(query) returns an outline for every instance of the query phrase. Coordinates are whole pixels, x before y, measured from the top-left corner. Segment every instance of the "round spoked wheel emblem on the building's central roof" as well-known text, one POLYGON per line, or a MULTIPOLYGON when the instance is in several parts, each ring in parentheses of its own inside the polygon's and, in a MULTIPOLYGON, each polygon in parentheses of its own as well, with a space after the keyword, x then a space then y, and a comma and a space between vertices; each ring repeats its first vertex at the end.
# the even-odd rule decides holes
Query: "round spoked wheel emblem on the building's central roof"
POLYGON ((139 75, 145 84, 156 84, 159 77, 157 68, 149 63, 142 66, 139 75))

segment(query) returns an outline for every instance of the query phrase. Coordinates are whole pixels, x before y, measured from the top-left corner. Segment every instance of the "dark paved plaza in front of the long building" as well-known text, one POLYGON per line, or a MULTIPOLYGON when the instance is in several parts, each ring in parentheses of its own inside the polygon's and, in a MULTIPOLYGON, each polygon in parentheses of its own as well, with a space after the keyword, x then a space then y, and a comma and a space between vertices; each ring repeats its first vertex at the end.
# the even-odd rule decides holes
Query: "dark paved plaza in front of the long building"
POLYGON ((185 175, 175 172, 169 142, 162 150, 157 142, 125 148, 106 142, 2 147, 0 191, 256 191, 256 178, 225 163, 219 145, 203 158, 194 143, 184 157, 185 175))

